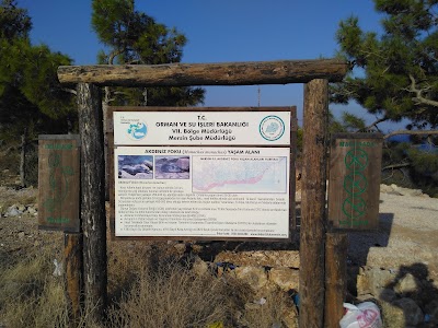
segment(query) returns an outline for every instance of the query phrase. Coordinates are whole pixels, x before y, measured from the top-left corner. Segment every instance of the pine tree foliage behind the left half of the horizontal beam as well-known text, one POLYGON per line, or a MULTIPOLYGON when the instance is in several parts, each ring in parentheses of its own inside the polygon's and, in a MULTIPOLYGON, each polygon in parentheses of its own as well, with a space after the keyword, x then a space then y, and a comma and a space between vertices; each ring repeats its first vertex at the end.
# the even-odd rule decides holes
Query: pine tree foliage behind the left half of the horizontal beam
MULTIPOLYGON (((161 65, 180 62, 187 39, 175 28, 135 10, 134 0, 94 0, 92 27, 107 52, 100 63, 161 65)), ((149 87, 112 90, 114 105, 194 106, 204 101, 200 87, 149 87), (147 94, 147 101, 145 101, 147 94)))

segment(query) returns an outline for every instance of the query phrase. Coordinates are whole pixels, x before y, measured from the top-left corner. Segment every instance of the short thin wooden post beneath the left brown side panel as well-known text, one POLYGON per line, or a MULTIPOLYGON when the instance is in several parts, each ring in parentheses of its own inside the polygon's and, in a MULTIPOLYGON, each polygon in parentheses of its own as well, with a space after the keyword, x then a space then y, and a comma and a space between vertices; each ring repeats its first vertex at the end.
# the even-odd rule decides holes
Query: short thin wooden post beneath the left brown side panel
POLYGON ((66 300, 70 327, 79 327, 82 311, 82 235, 65 234, 66 300))

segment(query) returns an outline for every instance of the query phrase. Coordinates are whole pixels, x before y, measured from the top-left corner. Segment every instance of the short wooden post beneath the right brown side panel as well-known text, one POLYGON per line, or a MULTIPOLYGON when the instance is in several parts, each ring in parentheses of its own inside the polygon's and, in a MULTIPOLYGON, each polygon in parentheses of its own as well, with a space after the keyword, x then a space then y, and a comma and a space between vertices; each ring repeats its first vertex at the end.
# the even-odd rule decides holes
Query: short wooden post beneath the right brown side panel
POLYGON ((348 238, 345 233, 327 233, 325 243, 325 319, 327 328, 339 327, 347 291, 348 238))

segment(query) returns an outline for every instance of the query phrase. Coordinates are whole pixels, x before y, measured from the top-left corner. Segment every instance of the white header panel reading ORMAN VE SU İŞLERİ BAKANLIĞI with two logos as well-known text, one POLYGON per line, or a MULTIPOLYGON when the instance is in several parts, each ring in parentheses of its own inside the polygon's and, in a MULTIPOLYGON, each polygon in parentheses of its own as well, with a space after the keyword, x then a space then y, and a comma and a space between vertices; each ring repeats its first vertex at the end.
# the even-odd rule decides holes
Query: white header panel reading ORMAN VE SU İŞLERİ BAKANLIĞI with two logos
POLYGON ((115 145, 289 145, 290 112, 114 112, 115 145))

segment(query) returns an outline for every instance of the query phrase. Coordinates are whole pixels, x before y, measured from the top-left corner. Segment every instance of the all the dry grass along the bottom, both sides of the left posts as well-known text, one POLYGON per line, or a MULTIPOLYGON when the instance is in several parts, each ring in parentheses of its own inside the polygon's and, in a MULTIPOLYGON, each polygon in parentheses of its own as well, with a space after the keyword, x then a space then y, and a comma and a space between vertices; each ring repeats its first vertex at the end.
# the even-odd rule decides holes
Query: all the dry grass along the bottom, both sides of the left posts
MULTIPOLYGON (((165 255, 161 247, 119 242, 108 246, 107 320, 92 323, 84 311, 78 327, 272 328, 290 309, 285 295, 276 293, 267 295, 266 304, 249 307, 255 297, 249 285, 209 271, 195 274, 191 258, 165 255)), ((51 274, 49 249, 0 273, 0 327, 71 327, 64 278, 51 274)))

